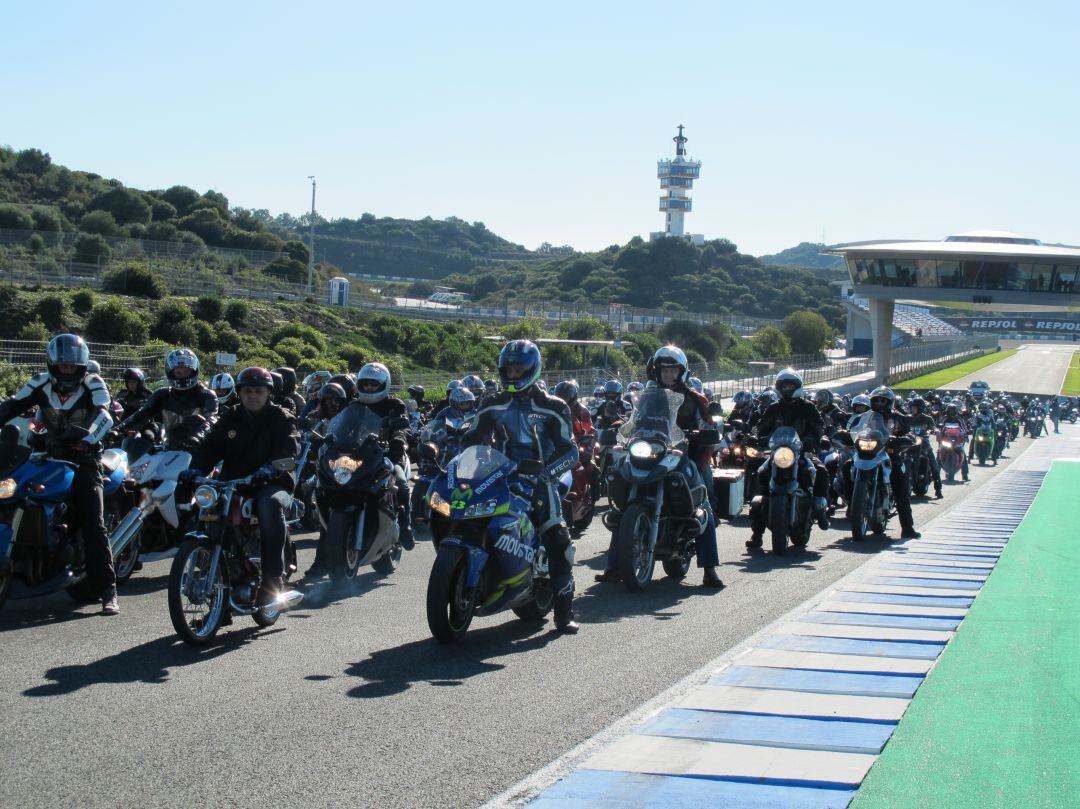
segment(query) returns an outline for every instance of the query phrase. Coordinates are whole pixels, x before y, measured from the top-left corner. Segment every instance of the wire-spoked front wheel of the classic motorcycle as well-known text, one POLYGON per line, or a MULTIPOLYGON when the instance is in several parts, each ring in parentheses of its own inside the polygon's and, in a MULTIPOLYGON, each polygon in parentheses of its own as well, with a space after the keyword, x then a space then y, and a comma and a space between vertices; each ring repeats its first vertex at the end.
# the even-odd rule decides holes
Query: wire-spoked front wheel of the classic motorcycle
POLYGON ((180 639, 189 646, 208 644, 221 628, 228 608, 228 588, 219 561, 214 580, 207 581, 214 551, 202 542, 186 541, 168 571, 168 617, 180 639))

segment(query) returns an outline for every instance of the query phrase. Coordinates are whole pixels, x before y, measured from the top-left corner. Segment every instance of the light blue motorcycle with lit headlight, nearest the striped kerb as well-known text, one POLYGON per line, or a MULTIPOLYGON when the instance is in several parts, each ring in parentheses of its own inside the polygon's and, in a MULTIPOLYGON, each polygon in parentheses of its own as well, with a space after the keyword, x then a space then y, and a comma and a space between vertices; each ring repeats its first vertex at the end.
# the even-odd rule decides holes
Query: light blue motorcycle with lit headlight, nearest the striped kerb
POLYGON ((890 484, 893 464, 890 448, 907 451, 913 441, 907 437, 890 439, 880 416, 873 412, 865 414, 852 433, 855 457, 848 518, 852 539, 863 540, 870 531, 885 534, 893 513, 895 501, 890 484))

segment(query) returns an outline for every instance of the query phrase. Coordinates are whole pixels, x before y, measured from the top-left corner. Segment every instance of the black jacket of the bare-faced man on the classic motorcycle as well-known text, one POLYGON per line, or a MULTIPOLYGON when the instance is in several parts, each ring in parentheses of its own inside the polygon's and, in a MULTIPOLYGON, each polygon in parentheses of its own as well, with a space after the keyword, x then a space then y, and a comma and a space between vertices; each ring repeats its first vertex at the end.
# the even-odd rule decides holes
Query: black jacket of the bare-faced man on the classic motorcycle
MULTIPOLYGON (((275 460, 293 460, 299 451, 295 416, 273 403, 253 416, 238 404, 226 408, 206 440, 195 447, 191 469, 205 473, 222 461, 221 480, 232 481, 275 460)), ((294 472, 279 472, 274 481, 291 490, 296 485, 294 472)))

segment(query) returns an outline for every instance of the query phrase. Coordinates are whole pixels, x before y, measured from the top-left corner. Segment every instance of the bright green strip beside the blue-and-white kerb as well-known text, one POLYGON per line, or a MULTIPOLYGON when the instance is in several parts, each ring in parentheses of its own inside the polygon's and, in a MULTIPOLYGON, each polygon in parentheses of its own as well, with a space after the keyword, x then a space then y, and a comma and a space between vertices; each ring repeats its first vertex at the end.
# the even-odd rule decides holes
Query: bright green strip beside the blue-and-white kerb
POLYGON ((1078 525, 1057 461, 852 809, 1080 807, 1078 525))

